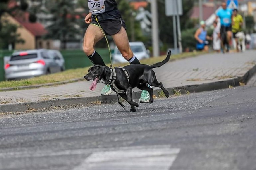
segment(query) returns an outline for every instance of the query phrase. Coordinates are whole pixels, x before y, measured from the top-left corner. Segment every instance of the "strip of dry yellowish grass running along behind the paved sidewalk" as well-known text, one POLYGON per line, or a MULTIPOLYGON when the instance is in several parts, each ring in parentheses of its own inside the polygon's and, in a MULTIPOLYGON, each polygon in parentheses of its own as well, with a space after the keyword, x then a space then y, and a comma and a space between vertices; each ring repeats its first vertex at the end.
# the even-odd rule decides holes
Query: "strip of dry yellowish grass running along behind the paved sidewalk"
MULTIPOLYGON (((203 52, 189 52, 189 53, 182 53, 177 55, 172 55, 171 60, 177 60, 177 59, 184 59, 188 57, 194 57, 198 56, 200 54, 204 54, 203 52)), ((160 61, 163 61, 165 59, 164 56, 160 57, 153 57, 149 59, 141 60, 142 64, 154 64, 160 61)), ((127 63, 121 63, 121 64, 114 64, 113 66, 126 66, 127 63)), ((108 64, 110 66, 110 64, 108 64)), ((69 81, 72 82, 73 79, 82 79, 85 74, 88 73, 89 67, 85 68, 78 68, 78 69, 70 69, 66 70, 64 72, 59 72, 55 74, 50 75, 44 75, 40 77, 35 77, 31 79, 26 80, 16 80, 16 81, 3 81, 0 82, 0 88, 6 88, 6 87, 13 87, 18 89, 19 86, 29 86, 29 85, 42 85, 47 83, 57 83, 57 82, 63 82, 63 81, 69 81)))

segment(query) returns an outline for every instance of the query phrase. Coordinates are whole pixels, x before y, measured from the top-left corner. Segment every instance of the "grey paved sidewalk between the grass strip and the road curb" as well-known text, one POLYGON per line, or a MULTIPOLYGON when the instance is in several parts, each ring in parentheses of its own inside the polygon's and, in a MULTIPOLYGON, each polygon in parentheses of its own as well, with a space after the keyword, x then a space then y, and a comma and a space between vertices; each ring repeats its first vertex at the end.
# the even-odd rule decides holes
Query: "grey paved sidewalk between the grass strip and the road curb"
MULTIPOLYGON (((200 85, 224 81, 234 77, 242 77, 255 65, 256 51, 246 51, 244 53, 201 55, 194 58, 168 62, 164 66, 154 70, 158 81, 162 82, 166 88, 170 88, 200 85)), ((58 86, 2 91, 0 92, 0 106, 8 103, 99 96, 103 84, 99 83, 94 91, 90 91, 90 84, 91 81, 87 82, 84 80, 58 86)), ((138 89, 135 88, 134 91, 138 91, 138 89)))

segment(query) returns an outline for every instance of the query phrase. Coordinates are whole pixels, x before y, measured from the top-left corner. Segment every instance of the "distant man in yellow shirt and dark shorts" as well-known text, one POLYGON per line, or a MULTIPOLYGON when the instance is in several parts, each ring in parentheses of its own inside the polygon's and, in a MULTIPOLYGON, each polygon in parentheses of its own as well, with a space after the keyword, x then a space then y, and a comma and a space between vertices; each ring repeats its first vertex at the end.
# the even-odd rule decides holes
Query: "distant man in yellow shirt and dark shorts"
POLYGON ((239 51, 238 38, 236 37, 236 33, 242 31, 243 17, 237 14, 237 12, 238 12, 237 9, 233 10, 232 33, 233 33, 233 38, 236 41, 236 50, 239 51))

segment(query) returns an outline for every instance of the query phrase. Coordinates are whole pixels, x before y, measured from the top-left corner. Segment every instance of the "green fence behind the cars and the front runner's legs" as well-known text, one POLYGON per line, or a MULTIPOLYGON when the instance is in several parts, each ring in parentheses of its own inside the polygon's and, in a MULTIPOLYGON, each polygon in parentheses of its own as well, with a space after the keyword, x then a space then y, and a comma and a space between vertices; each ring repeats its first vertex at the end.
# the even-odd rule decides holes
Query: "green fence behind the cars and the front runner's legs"
MULTIPOLYGON (((102 56, 105 63, 110 63, 109 50, 98 48, 96 51, 102 56)), ((65 68, 75 69, 91 66, 92 63, 82 50, 61 50, 65 60, 65 68)), ((4 56, 10 56, 12 51, 0 50, 0 81, 4 81, 4 56)))

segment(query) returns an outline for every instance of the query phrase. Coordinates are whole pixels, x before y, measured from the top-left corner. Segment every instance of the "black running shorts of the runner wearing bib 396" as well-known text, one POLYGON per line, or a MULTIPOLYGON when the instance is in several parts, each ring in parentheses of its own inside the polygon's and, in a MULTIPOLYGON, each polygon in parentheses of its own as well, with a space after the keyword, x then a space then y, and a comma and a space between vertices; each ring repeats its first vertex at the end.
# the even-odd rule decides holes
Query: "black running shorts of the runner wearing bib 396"
MULTIPOLYGON (((91 24, 99 26, 97 21, 94 19, 91 21, 91 24)), ((121 17, 111 20, 102 20, 99 21, 99 24, 106 35, 114 35, 118 33, 121 30, 121 27, 126 30, 125 22, 121 17)))

